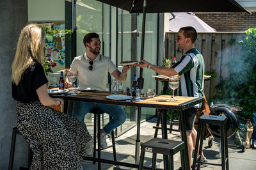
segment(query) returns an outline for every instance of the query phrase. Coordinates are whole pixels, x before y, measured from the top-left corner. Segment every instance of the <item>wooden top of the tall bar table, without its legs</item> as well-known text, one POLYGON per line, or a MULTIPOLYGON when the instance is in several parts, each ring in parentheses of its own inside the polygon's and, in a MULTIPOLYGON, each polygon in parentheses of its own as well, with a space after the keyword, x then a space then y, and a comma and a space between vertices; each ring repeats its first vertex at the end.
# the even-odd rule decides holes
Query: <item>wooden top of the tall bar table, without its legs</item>
MULTIPOLYGON (((111 100, 106 98, 106 96, 111 95, 109 91, 81 91, 77 95, 53 95, 54 98, 63 98, 63 100, 76 100, 83 102, 92 102, 100 104, 112 104, 112 105, 129 105, 135 107, 151 107, 157 109, 174 109, 183 111, 188 107, 199 104, 203 102, 204 98, 195 98, 195 97, 180 97, 175 96, 175 102, 171 102, 172 96, 170 95, 156 95, 154 98, 144 97, 141 101, 131 102, 131 100, 111 100)), ((133 97, 135 98, 135 97, 133 97)))

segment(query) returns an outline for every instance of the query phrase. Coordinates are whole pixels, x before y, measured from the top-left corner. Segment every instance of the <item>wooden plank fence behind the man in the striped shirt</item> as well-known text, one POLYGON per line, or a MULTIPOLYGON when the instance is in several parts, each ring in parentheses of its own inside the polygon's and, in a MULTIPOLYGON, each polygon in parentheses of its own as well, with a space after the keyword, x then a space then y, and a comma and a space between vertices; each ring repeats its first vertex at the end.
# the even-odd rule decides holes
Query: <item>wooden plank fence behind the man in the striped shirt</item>
MULTIPOLYGON (((179 61, 180 57, 184 55, 184 51, 177 48, 176 34, 173 32, 166 33, 166 58, 176 57, 179 61)), ((216 94, 214 89, 220 81, 220 77, 223 77, 223 79, 230 77, 227 65, 229 61, 241 58, 241 47, 237 45, 237 42, 243 40, 244 37, 246 37, 245 32, 198 33, 195 47, 204 56, 205 73, 215 73, 214 80, 205 82, 206 98, 214 97, 216 94), (233 42, 230 43, 230 40, 233 40, 233 42)))

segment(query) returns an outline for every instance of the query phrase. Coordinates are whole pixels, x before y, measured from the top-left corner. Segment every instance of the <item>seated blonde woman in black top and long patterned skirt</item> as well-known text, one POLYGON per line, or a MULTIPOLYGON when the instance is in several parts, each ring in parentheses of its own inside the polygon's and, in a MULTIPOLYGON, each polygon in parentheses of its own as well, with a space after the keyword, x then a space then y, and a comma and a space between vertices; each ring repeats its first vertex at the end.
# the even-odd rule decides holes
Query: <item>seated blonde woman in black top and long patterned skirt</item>
POLYGON ((29 24, 20 33, 12 64, 12 96, 17 100, 17 128, 33 150, 30 169, 81 169, 90 135, 80 121, 52 109, 60 98, 47 93, 45 31, 29 24))

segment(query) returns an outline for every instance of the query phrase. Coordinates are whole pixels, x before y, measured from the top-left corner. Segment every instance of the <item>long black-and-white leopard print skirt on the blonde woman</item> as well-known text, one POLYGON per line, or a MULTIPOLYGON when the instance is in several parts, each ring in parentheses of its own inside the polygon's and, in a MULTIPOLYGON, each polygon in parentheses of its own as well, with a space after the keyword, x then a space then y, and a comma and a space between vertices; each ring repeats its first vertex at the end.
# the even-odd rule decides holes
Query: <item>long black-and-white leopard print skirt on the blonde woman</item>
POLYGON ((79 120, 39 101, 17 102, 17 128, 33 150, 30 169, 80 169, 90 136, 79 120))

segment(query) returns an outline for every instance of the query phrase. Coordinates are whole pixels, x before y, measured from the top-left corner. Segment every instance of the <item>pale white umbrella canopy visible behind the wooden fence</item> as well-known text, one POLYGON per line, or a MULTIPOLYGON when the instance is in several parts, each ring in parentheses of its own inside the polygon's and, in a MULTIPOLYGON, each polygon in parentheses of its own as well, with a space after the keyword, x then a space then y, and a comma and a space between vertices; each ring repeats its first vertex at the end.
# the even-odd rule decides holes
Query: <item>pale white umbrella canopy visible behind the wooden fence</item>
POLYGON ((196 32, 216 32, 192 12, 172 12, 169 17, 169 30, 178 32, 180 27, 192 26, 196 32))

